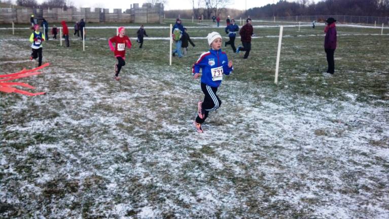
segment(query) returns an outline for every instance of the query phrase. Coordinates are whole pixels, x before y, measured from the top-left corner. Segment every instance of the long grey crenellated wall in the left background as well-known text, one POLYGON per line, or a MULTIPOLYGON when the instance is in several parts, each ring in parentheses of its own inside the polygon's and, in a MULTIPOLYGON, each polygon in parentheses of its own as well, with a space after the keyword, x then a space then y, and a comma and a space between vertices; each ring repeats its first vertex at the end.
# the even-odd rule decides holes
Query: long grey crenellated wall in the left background
POLYGON ((109 23, 162 23, 163 21, 163 4, 156 4, 154 7, 150 3, 131 5, 131 9, 122 12, 122 9, 114 9, 109 13, 109 9, 95 8, 92 12, 90 8, 67 9, 14 9, 0 8, 0 24, 5 23, 29 23, 31 15, 42 20, 45 18, 49 23, 59 23, 62 20, 66 22, 77 22, 84 19, 87 23, 109 22, 109 23))

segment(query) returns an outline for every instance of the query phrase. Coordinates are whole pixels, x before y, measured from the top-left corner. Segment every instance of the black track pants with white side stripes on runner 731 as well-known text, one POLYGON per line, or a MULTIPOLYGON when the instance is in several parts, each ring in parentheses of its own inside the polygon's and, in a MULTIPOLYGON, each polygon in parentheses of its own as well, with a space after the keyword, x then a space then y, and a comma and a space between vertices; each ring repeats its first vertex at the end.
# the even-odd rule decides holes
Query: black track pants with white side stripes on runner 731
POLYGON ((211 87, 209 85, 201 83, 201 90, 205 96, 201 105, 201 108, 204 111, 204 119, 200 119, 199 116, 197 116, 196 118, 196 122, 200 124, 205 122, 206 118, 208 117, 209 111, 215 111, 220 107, 220 105, 222 105, 222 101, 219 99, 218 95, 216 95, 216 92, 218 91, 217 87, 211 87))

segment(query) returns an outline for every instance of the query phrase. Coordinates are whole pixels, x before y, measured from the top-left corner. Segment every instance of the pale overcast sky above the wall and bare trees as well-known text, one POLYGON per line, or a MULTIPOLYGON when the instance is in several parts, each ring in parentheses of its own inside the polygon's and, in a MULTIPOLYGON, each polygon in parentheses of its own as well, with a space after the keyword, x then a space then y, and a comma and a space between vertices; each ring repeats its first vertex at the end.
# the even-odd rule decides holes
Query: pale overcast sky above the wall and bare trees
MULTIPOLYGON (((293 0, 290 0, 293 1, 293 0)), ((16 2, 16 1, 14 1, 16 2)), ((44 0, 37 0, 38 3, 45 2, 44 0)), ((68 0, 66 1, 68 2, 68 0)), ((139 3, 142 7, 143 3, 148 2, 147 0, 70 0, 73 2, 76 7, 84 7, 84 8, 109 8, 111 12, 114 8, 121 9, 129 9, 131 4, 139 3)), ((244 10, 246 8, 254 8, 261 7, 267 4, 276 3, 278 0, 231 0, 232 4, 228 8, 235 8, 244 10)), ((165 10, 171 9, 191 9, 192 8, 192 0, 167 0, 167 4, 165 5, 165 10)))

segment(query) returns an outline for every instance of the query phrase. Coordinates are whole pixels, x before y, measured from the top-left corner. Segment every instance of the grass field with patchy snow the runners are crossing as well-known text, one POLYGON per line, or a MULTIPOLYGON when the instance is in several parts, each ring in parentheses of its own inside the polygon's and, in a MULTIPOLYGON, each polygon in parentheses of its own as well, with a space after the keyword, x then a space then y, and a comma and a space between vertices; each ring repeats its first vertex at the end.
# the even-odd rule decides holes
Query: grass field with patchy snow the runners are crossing
MULTIPOLYGON (((47 94, 0 93, 0 217, 388 218, 389 38, 337 30, 333 77, 322 27, 285 29, 278 85, 266 37, 278 28, 255 29, 247 60, 224 48, 235 71, 203 134, 191 66, 205 40, 172 66, 168 41, 132 41, 120 82, 114 29, 88 30, 86 52, 73 37, 45 42, 51 65, 20 81, 47 94)), ((11 33, 0 30, 1 74, 37 66, 29 31, 11 33)))

